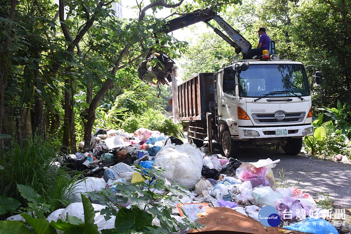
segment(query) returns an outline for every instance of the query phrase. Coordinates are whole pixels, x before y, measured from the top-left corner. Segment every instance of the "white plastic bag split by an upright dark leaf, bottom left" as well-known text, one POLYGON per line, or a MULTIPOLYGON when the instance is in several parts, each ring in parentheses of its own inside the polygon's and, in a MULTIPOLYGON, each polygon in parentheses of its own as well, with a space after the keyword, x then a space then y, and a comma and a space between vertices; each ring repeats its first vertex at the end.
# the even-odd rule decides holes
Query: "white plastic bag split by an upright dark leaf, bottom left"
MULTIPOLYGON (((116 217, 111 216, 111 219, 106 221, 104 215, 100 214, 100 211, 102 209, 106 208, 106 206, 102 206, 99 204, 92 204, 92 206, 93 206, 94 211, 95 211, 94 224, 96 224, 98 226, 99 232, 101 232, 102 229, 114 228, 114 222, 116 220, 116 217)), ((62 211, 59 215, 58 215, 57 211, 54 211, 53 212, 54 215, 52 215, 52 214, 49 215, 49 217, 47 217, 47 220, 49 220, 49 218, 50 218, 49 222, 51 222, 51 220, 57 221, 58 219, 66 220, 66 216, 68 214, 70 216, 78 217, 79 219, 81 219, 84 222, 83 203, 81 203, 81 202, 71 203, 65 209, 60 209, 60 210, 62 210, 62 211)))

